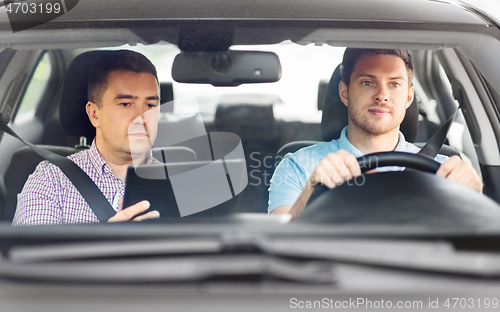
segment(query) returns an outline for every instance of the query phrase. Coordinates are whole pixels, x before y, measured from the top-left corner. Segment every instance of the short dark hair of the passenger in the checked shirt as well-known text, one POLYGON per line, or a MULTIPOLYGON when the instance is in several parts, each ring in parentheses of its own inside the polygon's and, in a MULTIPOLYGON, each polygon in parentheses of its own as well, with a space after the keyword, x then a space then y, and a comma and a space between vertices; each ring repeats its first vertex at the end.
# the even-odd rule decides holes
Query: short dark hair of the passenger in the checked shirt
POLYGON ((156 67, 141 53, 130 50, 108 51, 90 68, 88 101, 96 103, 98 107, 101 106, 102 96, 108 88, 108 76, 113 71, 149 73, 155 76, 158 83, 156 67))

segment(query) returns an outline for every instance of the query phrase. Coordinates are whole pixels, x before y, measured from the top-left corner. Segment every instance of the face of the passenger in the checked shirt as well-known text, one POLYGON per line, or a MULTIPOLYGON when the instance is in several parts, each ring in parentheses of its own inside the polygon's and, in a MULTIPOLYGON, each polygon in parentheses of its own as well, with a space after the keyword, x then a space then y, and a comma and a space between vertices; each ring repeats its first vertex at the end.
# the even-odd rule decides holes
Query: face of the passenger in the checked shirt
POLYGON ((156 78, 149 73, 114 71, 107 81, 100 108, 94 110, 95 118, 90 118, 96 127, 99 151, 120 158, 142 157, 156 139, 159 116, 156 78))

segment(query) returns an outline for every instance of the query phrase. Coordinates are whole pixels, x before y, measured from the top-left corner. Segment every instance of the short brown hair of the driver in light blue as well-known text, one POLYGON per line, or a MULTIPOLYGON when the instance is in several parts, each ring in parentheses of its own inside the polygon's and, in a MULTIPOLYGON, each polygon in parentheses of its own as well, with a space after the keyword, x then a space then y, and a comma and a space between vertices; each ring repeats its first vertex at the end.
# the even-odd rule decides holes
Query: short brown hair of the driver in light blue
POLYGON ((356 62, 365 55, 395 55, 399 56, 406 65, 406 72, 408 73, 408 86, 411 86, 413 80, 413 63, 411 55, 408 50, 401 49, 355 49, 347 48, 344 52, 342 60, 342 81, 349 87, 351 82, 351 75, 356 66, 356 62))

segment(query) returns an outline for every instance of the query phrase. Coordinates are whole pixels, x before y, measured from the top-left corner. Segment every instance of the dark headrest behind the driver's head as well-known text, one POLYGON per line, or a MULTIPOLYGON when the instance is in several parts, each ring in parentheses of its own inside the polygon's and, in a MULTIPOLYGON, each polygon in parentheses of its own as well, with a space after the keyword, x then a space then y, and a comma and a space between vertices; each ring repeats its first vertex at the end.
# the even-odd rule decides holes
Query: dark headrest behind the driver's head
MULTIPOLYGON (((325 141, 340 138, 342 129, 347 126, 347 107, 344 105, 339 95, 340 80, 339 65, 330 78, 322 106, 323 117, 321 119, 321 135, 325 141)), ((400 127, 401 132, 403 132, 408 142, 414 142, 417 138, 418 115, 418 104, 414 98, 410 107, 406 109, 406 115, 400 127)))

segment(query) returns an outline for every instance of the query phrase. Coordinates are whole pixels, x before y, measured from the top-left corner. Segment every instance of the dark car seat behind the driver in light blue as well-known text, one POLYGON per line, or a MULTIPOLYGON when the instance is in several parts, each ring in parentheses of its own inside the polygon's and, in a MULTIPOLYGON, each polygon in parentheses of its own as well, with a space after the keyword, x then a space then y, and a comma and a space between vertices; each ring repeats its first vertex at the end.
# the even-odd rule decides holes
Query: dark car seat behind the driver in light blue
MULTIPOLYGON (((342 129, 347 126, 347 107, 340 99, 338 85, 341 81, 340 65, 337 66, 330 78, 322 105, 321 136, 328 142, 340 138, 342 129)), ((414 143, 418 134, 419 110, 416 99, 406 110, 406 115, 401 123, 400 130, 408 142, 414 143)), ((295 141, 283 145, 276 153, 276 159, 281 160, 287 153, 293 153, 303 147, 310 146, 322 141, 295 141)), ((423 147, 425 143, 414 143, 423 147)), ((446 156, 460 155, 455 148, 443 145, 439 154, 446 156)))

